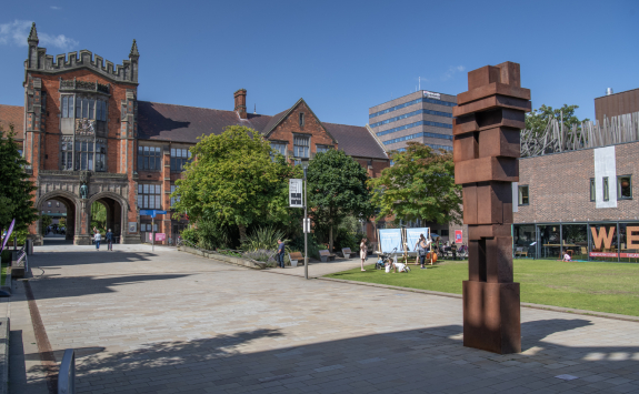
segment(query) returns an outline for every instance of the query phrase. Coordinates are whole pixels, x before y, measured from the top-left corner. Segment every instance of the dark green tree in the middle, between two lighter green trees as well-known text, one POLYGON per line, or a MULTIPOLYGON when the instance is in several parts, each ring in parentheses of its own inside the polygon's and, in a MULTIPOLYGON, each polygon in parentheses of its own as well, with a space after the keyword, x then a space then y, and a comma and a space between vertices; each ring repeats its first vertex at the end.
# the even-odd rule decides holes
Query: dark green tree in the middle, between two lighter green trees
POLYGON ((348 216, 372 215, 369 176, 366 170, 343 151, 329 150, 311 160, 308 173, 308 204, 316 225, 329 232, 332 251, 333 229, 348 216))

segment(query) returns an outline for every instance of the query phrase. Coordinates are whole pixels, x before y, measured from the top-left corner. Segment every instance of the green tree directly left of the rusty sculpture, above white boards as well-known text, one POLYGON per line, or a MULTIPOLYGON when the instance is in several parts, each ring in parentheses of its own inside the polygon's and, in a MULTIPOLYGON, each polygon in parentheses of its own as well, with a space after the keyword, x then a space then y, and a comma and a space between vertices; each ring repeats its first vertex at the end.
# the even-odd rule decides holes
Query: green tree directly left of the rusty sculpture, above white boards
POLYGON ((369 181, 379 216, 400 220, 461 224, 461 185, 455 184, 452 153, 409 142, 405 152, 393 152, 392 166, 369 181))

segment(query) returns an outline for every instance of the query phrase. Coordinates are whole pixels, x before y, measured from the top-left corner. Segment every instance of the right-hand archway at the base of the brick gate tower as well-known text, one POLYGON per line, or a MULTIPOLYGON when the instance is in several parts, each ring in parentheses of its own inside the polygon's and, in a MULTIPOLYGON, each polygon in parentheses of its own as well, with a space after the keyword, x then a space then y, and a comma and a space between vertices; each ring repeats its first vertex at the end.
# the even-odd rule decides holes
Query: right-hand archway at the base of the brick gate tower
POLYGON ((116 242, 122 242, 122 229, 124 229, 124 220, 127 218, 127 202, 122 200, 122 198, 116 193, 111 192, 101 192, 98 194, 92 195, 87 203, 88 210, 88 223, 87 228, 89 230, 89 234, 93 232, 93 224, 92 223, 92 213, 94 213, 96 209, 100 209, 103 206, 106 210, 106 218, 103 218, 103 222, 100 222, 100 225, 103 226, 100 230, 102 235, 106 233, 107 230, 111 230, 113 235, 116 236, 116 242))

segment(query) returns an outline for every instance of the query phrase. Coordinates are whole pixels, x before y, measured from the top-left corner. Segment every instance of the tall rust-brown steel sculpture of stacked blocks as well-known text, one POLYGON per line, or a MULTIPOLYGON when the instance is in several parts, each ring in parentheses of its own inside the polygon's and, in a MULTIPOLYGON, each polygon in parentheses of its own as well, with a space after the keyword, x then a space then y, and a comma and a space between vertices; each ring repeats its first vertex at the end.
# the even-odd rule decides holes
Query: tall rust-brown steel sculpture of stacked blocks
POLYGON ((452 123, 455 182, 463 190, 468 224, 468 281, 463 281, 463 345, 521 352, 519 283, 512 282, 512 182, 519 181, 519 131, 530 90, 519 64, 486 65, 468 73, 452 123))

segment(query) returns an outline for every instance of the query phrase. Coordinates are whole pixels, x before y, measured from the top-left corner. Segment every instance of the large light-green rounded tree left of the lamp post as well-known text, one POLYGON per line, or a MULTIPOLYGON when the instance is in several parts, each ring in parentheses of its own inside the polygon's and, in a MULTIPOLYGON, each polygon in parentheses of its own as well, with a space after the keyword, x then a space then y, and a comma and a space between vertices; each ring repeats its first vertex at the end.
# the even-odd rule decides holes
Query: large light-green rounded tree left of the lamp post
POLYGON ((288 179, 301 178, 301 170, 288 164, 257 131, 228 127, 220 135, 202 137, 191 149, 196 160, 187 164, 183 178, 171 194, 178 201, 174 216, 236 225, 240 239, 247 228, 267 221, 286 221, 288 179))

